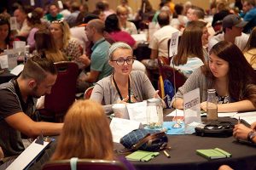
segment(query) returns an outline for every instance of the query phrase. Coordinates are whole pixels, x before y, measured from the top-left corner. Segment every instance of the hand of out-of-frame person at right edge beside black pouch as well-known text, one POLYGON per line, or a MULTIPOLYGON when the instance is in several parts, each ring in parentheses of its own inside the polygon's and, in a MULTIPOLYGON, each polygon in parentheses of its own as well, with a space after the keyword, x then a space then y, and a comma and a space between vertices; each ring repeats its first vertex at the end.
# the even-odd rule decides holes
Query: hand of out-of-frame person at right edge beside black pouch
POLYGON ((240 123, 240 124, 235 125, 235 128, 233 129, 233 136, 236 139, 247 140, 247 135, 252 130, 253 130, 252 128, 246 127, 240 123))

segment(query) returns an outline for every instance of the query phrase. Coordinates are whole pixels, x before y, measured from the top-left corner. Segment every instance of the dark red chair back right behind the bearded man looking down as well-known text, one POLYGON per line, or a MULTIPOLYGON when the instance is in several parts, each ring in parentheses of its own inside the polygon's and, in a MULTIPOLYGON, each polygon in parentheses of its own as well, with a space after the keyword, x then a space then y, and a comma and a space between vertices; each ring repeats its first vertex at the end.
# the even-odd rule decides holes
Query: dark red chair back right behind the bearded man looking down
POLYGON ((79 66, 72 61, 56 62, 55 66, 58 76, 55 85, 51 89, 51 94, 45 95, 44 111, 40 111, 40 115, 43 117, 44 114, 53 116, 56 120, 65 116, 69 106, 75 100, 79 66))

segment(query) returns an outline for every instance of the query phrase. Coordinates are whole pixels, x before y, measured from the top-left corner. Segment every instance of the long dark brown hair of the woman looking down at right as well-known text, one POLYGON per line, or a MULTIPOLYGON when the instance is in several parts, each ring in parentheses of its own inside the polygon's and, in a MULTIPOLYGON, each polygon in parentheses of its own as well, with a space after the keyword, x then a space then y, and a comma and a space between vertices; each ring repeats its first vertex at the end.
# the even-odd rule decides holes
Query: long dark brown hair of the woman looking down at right
MULTIPOLYGON (((253 67, 249 65, 241 50, 231 42, 218 42, 210 50, 210 54, 217 55, 229 63, 228 83, 229 94, 236 101, 249 99, 256 106, 256 76, 253 67)), ((207 71, 207 77, 214 77, 207 71)))

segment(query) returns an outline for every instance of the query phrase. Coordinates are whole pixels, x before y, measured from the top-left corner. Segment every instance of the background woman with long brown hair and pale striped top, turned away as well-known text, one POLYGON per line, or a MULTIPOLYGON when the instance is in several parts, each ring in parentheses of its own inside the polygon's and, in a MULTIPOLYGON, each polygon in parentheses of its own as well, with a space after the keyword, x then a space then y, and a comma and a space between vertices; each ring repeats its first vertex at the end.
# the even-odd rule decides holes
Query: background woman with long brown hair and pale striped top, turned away
POLYGON ((177 48, 177 55, 171 61, 171 66, 183 72, 186 77, 207 60, 207 46, 209 33, 207 23, 197 20, 190 21, 183 31, 177 48))

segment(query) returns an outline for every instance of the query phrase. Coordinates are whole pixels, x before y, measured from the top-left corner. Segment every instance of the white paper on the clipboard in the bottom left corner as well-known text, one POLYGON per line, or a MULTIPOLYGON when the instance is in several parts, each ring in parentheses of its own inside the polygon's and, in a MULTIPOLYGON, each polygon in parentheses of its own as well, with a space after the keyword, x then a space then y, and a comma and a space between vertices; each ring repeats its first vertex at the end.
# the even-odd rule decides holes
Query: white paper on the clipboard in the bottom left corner
POLYGON ((14 169, 24 169, 27 165, 29 165, 38 154, 44 150, 44 148, 49 144, 49 142, 44 142, 43 144, 36 144, 36 140, 30 144, 26 150, 24 150, 20 156, 18 156, 12 164, 7 167, 7 170, 14 170, 14 169))

